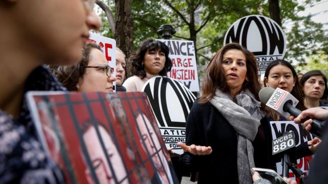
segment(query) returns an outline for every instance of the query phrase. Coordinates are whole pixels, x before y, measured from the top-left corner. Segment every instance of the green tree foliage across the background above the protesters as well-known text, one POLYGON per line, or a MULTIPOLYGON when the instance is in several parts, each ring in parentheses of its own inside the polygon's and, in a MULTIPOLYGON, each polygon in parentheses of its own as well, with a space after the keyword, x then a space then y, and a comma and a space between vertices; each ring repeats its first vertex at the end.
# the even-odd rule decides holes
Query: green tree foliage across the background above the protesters
MULTIPOLYGON (((297 0, 279 1, 281 21, 294 22, 289 30, 283 28, 288 41, 285 59, 293 64, 303 66, 306 64, 306 57, 328 53, 328 37, 325 36, 327 32, 322 25, 311 21, 309 16, 297 15, 305 6, 316 1, 318 0, 305 0, 302 4, 297 0)), ((115 10, 113 4, 110 7, 112 11, 115 10)), ((194 26, 195 30, 201 28, 196 34, 199 64, 206 64, 213 53, 222 47, 224 34, 237 19, 251 14, 270 17, 269 1, 262 0, 133 0, 132 14, 135 50, 142 40, 159 38, 156 31, 163 24, 171 24, 177 31, 172 39, 191 39, 191 27, 194 26), (195 17, 194 25, 188 25, 191 16, 195 17), (201 27, 207 18, 207 24, 201 27)), ((103 28, 100 32, 113 38, 104 14, 101 14, 101 20, 103 28)))

